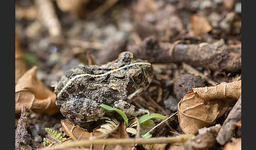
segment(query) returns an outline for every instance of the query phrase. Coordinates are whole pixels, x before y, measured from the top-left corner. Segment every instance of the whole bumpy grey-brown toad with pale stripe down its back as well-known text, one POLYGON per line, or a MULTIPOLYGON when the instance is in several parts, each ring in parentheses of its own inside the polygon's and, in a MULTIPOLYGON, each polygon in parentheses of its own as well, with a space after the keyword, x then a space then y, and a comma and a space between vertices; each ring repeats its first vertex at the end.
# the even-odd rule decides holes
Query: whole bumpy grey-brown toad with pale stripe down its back
POLYGON ((105 113, 100 104, 135 116, 146 111, 130 103, 145 91, 153 76, 149 62, 135 59, 127 51, 102 66, 81 64, 67 71, 56 84, 56 105, 77 125, 100 119, 105 113))

